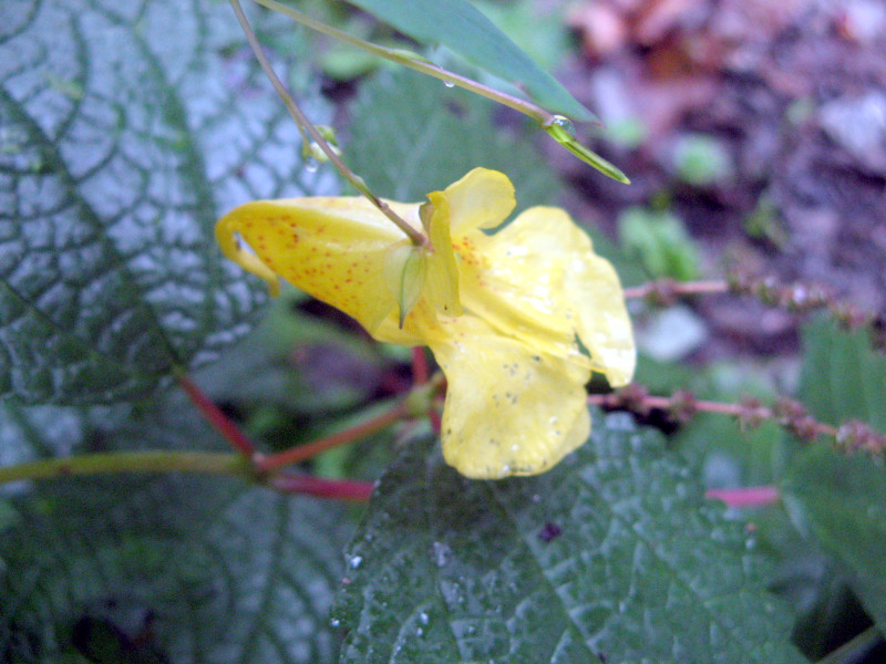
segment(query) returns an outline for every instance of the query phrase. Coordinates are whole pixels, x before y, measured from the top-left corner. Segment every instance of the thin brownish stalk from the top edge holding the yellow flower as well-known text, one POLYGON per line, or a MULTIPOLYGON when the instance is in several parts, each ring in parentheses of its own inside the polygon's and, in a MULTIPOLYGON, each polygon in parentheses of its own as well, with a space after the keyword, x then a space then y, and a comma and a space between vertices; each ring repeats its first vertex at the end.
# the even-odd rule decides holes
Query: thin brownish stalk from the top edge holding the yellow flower
POLYGON ((365 196, 370 203, 372 203, 372 205, 374 205, 385 217, 393 221, 393 224, 406 235, 413 245, 416 247, 426 246, 427 238, 410 226, 405 220, 400 218, 387 203, 384 203, 369 189, 363 178, 353 173, 350 168, 348 168, 344 162, 341 160, 341 157, 339 157, 336 151, 332 149, 332 146, 329 145, 320 132, 317 131, 317 127, 313 126, 313 123, 311 123, 308 116, 305 115, 299 105, 296 103, 296 100, 291 94, 289 94, 289 91, 286 90, 286 86, 284 85, 282 81, 280 81, 277 72, 274 71, 274 68, 265 55, 265 52, 261 50, 261 44, 258 42, 256 33, 253 31, 253 28, 249 24, 249 20, 246 18, 246 14, 243 11, 239 0, 230 0, 230 6, 234 9, 234 13, 237 17, 237 21, 239 21, 243 31, 246 33, 246 39, 249 42, 249 46, 253 49, 256 60, 258 60, 258 64, 261 66, 261 71, 265 72, 265 75, 270 81, 274 90, 277 91, 277 94, 280 96, 287 110, 289 111, 289 114, 296 121, 299 131, 302 132, 302 136, 305 133, 307 133, 320 147, 320 149, 323 151, 323 154, 336 166, 342 177, 344 177, 344 179, 347 179, 358 191, 360 191, 360 194, 365 196))

